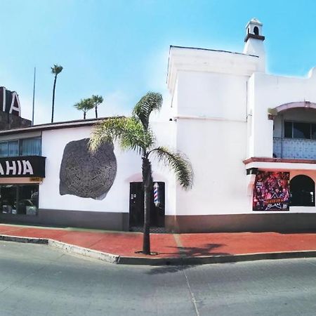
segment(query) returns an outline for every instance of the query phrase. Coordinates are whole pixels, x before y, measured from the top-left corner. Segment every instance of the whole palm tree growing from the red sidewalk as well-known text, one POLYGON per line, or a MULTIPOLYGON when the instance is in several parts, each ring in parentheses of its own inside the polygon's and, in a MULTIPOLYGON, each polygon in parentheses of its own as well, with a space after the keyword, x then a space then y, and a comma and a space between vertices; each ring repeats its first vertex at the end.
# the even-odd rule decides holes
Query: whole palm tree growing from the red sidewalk
POLYGON ((192 167, 185 156, 171 152, 166 147, 154 147, 155 139, 150 129, 150 114, 162 107, 162 95, 148 92, 139 100, 131 117, 117 117, 102 121, 94 127, 89 140, 89 150, 94 152, 105 142, 119 140, 122 148, 134 150, 142 157, 142 176, 144 187, 144 234, 143 254, 150 254, 150 201, 152 197, 152 164, 156 156, 173 169, 182 187, 192 187, 192 167))

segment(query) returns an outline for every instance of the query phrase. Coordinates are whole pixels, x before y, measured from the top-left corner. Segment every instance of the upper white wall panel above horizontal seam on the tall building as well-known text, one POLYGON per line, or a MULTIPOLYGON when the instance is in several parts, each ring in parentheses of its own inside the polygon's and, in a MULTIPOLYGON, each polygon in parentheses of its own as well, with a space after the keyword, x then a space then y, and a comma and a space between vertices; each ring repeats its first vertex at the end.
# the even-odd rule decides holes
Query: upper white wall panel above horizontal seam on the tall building
POLYGON ((245 121, 247 79, 233 74, 179 72, 177 115, 245 121))

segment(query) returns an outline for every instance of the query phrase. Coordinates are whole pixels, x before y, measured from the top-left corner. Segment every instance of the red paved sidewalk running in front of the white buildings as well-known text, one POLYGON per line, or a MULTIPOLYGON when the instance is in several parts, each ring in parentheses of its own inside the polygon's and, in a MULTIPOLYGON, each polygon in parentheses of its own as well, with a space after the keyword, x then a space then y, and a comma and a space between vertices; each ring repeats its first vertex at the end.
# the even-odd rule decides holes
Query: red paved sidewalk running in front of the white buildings
POLYGON ((158 253, 154 256, 136 253, 142 249, 143 234, 140 232, 0 224, 0 236, 3 240, 22 242, 27 240, 13 237, 32 238, 28 242, 37 242, 39 239, 38 242, 47 244, 46 240, 53 240, 60 242, 63 245, 60 247, 68 251, 85 249, 85 254, 91 254, 93 251, 112 254, 117 258, 116 263, 131 264, 154 264, 152 261, 158 264, 178 264, 177 259, 190 264, 316 256, 316 233, 151 234, 151 250, 158 253), (205 260, 206 258, 208 260, 205 260))

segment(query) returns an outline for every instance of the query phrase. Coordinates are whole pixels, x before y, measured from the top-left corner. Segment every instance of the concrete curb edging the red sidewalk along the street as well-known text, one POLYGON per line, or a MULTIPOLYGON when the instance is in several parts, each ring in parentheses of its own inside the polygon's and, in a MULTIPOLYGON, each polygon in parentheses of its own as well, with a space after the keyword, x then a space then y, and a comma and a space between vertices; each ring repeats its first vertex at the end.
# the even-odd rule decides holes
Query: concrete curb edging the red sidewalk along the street
POLYGON ((0 235, 0 240, 5 242, 25 242, 30 244, 46 244, 55 248, 62 249, 71 254, 79 254, 89 258, 98 259, 107 263, 120 265, 204 265, 211 263, 237 263, 242 261, 258 261, 258 260, 276 260, 291 258, 315 258, 316 250, 302 251, 279 251, 270 253, 256 254, 238 254, 225 256, 201 256, 201 257, 180 257, 180 258, 144 258, 144 257, 126 257, 93 249, 66 244, 55 239, 20 237, 0 235))

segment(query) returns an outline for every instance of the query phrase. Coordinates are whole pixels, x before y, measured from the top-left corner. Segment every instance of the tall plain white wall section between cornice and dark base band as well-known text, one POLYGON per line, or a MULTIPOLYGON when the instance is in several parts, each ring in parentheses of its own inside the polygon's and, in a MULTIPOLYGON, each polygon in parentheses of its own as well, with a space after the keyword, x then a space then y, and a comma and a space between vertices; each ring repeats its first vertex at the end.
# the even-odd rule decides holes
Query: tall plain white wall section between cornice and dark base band
POLYGON ((176 190, 176 215, 249 213, 247 76, 178 72, 177 149, 192 162, 192 190, 176 190))

